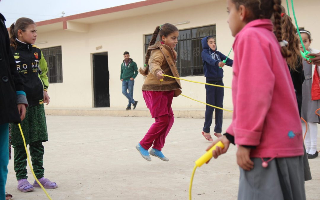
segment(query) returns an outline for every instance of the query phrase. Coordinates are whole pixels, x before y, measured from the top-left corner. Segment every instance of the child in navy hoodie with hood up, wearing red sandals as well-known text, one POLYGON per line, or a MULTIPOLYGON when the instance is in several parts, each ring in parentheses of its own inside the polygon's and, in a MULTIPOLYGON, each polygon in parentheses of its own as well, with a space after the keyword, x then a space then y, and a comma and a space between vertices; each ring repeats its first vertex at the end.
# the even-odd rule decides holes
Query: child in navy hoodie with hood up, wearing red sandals
MULTIPOLYGON (((223 69, 224 65, 232 66, 233 60, 227 59, 226 63, 222 62, 227 58, 227 56, 217 51, 217 45, 212 36, 207 36, 201 40, 203 51, 201 52, 201 57, 203 60, 204 76, 206 77, 206 83, 223 85, 223 69)), ((223 108, 223 87, 215 87, 211 85, 205 85, 206 91, 206 103, 223 108)), ((212 115, 214 108, 211 106, 205 106, 205 116, 204 116, 204 127, 202 135, 206 140, 212 141, 210 135, 210 126, 212 124, 212 115)), ((215 116, 215 127, 214 135, 220 137, 221 127, 222 127, 222 110, 216 109, 215 116)))

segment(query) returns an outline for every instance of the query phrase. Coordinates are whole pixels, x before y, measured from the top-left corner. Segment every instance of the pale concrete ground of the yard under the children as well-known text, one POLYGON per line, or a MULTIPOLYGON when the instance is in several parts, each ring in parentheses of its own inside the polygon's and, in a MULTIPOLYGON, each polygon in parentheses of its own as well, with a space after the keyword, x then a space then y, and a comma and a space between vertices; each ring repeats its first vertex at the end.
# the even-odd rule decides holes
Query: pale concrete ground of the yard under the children
MULTIPOLYGON (((47 116, 45 177, 59 185, 47 189, 49 195, 53 200, 188 199, 194 161, 210 144, 201 135, 204 119, 175 119, 163 148, 169 162, 152 156, 148 162, 135 149, 152 123, 149 117, 47 116)), ((224 119, 223 130, 230 123, 224 119)), ((237 199, 235 154, 236 147, 231 146, 225 155, 196 170, 192 199, 237 199)), ((320 157, 309 162, 313 180, 305 183, 307 199, 319 199, 320 157)), ((41 188, 17 190, 13 160, 8 169, 6 191, 15 200, 47 198, 41 188)))

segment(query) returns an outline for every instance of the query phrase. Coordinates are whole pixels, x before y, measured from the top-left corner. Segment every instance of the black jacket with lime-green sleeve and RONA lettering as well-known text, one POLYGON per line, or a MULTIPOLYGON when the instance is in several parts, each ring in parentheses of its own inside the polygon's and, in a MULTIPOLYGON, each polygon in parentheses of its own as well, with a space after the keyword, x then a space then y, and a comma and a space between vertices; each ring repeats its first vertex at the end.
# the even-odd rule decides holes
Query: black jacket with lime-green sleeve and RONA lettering
POLYGON ((11 47, 16 70, 23 81, 29 106, 43 103, 43 91, 48 89, 48 67, 41 50, 33 44, 16 39, 17 48, 11 47))

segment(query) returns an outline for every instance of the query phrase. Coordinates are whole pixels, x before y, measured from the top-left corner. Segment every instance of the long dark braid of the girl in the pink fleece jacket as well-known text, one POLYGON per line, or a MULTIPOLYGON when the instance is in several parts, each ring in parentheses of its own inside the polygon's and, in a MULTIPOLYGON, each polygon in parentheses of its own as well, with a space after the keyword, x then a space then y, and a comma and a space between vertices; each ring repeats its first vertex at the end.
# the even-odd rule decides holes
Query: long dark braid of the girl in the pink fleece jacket
POLYGON ((276 38, 278 42, 281 44, 281 54, 284 58, 288 58, 292 56, 291 51, 288 50, 285 43, 282 41, 282 27, 281 27, 281 0, 273 0, 274 2, 274 18, 275 18, 275 28, 276 28, 276 38))

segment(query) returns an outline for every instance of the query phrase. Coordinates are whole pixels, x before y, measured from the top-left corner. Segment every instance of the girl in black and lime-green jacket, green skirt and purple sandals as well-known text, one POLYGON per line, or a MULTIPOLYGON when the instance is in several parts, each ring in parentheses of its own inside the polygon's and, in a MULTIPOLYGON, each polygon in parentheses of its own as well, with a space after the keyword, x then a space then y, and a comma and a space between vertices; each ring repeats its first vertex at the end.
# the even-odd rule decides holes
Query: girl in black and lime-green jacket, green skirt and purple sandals
MULTIPOLYGON (((10 27, 10 44, 16 62, 16 69, 23 80, 29 107, 21 127, 29 145, 33 170, 44 188, 57 188, 58 185, 44 178, 42 142, 48 141, 44 102, 50 98, 48 89, 48 67, 41 50, 34 45, 36 41, 36 24, 29 18, 19 18, 10 27)), ((14 148, 14 171, 18 180, 18 189, 28 192, 38 183, 31 185, 27 180, 27 154, 23 146, 20 129, 11 124, 12 146, 14 148)))

